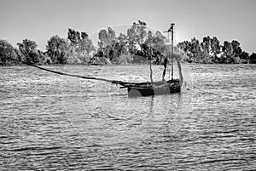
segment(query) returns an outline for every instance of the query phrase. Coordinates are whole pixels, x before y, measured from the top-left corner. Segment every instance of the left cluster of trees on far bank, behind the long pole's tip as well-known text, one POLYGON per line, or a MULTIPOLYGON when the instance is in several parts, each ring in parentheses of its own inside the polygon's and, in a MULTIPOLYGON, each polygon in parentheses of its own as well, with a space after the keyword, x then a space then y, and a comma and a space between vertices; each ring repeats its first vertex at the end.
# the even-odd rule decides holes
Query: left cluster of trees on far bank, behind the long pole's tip
POLYGON ((68 29, 67 38, 61 38, 58 35, 50 37, 46 44, 46 52, 39 50, 37 43, 29 39, 17 43, 17 46, 18 48, 13 48, 7 41, 0 40, 1 65, 19 63, 15 60, 9 60, 8 57, 35 65, 88 64, 90 53, 95 50, 86 32, 73 29, 68 29))

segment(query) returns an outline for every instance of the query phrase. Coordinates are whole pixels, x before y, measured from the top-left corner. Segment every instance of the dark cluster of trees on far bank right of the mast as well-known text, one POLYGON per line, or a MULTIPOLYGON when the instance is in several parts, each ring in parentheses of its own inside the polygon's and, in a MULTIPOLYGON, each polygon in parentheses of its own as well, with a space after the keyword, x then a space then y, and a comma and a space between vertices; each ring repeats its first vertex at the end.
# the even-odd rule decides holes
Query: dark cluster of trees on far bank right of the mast
POLYGON ((217 37, 203 37, 202 42, 198 43, 195 37, 191 42, 184 41, 178 43, 178 48, 182 49, 188 58, 185 61, 196 63, 248 63, 249 55, 242 51, 240 43, 233 40, 231 43, 224 41, 220 45, 217 37))

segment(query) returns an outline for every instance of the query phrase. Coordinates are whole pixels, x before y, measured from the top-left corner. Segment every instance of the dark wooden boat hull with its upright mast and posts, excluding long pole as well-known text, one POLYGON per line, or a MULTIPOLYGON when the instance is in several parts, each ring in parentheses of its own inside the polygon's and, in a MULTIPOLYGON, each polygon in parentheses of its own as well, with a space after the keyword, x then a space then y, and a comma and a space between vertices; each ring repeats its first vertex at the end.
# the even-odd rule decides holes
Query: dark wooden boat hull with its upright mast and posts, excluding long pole
MULTIPOLYGON (((168 31, 165 31, 168 33, 168 36, 170 33, 172 33, 172 54, 173 54, 173 26, 174 26, 174 24, 171 24, 170 29, 168 29, 168 31)), ((170 79, 168 81, 153 82, 152 68, 151 68, 151 62, 150 62, 151 83, 150 82, 128 83, 128 82, 119 82, 119 81, 113 81, 112 83, 121 85, 122 87, 120 87, 120 88, 127 88, 128 97, 178 93, 181 91, 181 87, 183 84, 183 76, 182 76, 181 65, 180 65, 179 59, 177 59, 177 57, 173 57, 173 56, 174 55, 172 55, 172 58, 171 58, 171 60, 172 60, 171 61, 172 79, 170 79), (180 77, 179 79, 173 79, 173 58, 176 58, 176 60, 177 60, 177 66, 179 69, 179 77, 180 77)), ((165 75, 163 76, 163 78, 164 77, 165 77, 165 75)))

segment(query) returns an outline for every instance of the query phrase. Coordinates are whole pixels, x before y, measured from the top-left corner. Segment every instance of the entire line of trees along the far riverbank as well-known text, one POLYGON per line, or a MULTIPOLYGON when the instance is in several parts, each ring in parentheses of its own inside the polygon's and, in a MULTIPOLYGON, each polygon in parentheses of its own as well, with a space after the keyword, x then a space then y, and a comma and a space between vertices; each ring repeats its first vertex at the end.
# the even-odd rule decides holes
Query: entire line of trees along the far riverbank
MULTIPOLYGON (((141 58, 137 56, 143 56, 154 64, 161 64, 170 55, 168 42, 168 38, 160 31, 148 31, 147 24, 141 20, 134 22, 126 34, 120 33, 119 36, 116 36, 111 27, 102 29, 98 33, 98 48, 85 31, 69 28, 67 37, 50 37, 45 52, 39 50, 38 44, 29 39, 17 43, 17 48, 6 40, 0 40, 0 64, 21 65, 17 60, 35 65, 128 64, 141 62, 141 58)), ((179 55, 182 61, 189 63, 256 63, 256 54, 249 55, 243 51, 236 40, 231 43, 224 41, 222 45, 217 37, 203 37, 201 42, 193 37, 190 42, 178 43, 174 49, 173 55, 179 55)))

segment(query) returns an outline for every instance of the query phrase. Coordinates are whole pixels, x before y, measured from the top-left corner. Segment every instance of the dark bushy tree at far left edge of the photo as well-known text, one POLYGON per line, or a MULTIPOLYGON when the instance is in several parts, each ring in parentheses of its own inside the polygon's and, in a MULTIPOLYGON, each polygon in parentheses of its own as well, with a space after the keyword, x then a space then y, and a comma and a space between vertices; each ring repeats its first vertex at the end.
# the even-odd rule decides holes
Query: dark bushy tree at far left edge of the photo
POLYGON ((16 58, 15 48, 6 40, 0 40, 0 63, 3 66, 13 63, 9 58, 16 58))

